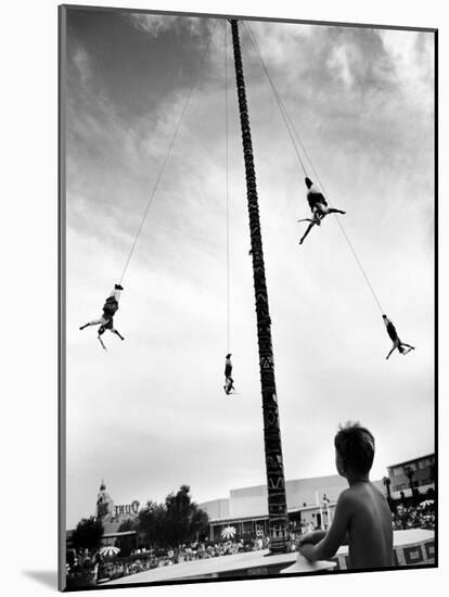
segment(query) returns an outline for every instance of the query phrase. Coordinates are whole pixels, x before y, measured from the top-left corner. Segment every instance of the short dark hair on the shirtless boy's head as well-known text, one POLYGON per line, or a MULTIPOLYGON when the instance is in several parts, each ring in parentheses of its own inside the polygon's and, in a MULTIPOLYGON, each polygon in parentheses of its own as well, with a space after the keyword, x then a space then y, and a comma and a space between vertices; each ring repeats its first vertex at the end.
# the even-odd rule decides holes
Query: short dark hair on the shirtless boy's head
POLYGON ((370 471, 375 445, 374 436, 368 429, 358 422, 348 421, 345 425, 339 425, 334 445, 345 466, 360 473, 370 471))

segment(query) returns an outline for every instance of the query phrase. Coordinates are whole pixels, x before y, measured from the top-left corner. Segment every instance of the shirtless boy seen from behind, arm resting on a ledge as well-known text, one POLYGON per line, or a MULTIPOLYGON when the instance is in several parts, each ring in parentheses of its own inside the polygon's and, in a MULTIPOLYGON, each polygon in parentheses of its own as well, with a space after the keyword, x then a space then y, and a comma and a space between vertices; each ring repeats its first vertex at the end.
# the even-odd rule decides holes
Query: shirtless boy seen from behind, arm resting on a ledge
POLYGON ((328 531, 302 537, 298 551, 310 561, 329 560, 348 544, 350 569, 393 566, 392 512, 384 494, 369 479, 374 437, 359 423, 341 427, 335 435, 335 463, 349 487, 343 491, 328 531))

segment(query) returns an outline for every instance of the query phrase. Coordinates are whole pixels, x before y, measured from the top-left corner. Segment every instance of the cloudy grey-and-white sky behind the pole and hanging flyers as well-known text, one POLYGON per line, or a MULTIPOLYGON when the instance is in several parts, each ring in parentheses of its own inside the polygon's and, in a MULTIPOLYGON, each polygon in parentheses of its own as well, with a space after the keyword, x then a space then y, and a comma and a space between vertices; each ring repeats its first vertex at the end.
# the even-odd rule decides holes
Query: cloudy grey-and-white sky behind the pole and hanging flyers
MULTIPOLYGON (((252 262, 226 20, 67 11, 67 526, 116 503, 196 501, 265 482, 252 262), (210 40, 210 46, 208 46, 210 40), (201 68, 200 73, 198 69, 201 68), (167 168, 124 278, 126 338, 79 326, 120 277, 189 90, 167 168)), ((298 245, 304 174, 241 28, 286 479, 334 472, 339 422, 376 437, 373 477, 434 449, 433 34, 252 22, 260 52, 407 357, 337 223, 298 245)))

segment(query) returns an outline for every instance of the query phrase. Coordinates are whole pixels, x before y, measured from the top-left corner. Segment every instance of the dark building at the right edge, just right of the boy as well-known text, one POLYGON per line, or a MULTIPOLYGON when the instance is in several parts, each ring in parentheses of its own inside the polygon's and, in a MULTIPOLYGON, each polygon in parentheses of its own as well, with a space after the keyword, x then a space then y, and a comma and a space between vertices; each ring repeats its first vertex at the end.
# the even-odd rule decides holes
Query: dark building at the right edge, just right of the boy
POLYGON ((429 488, 435 490, 435 454, 392 465, 387 467, 387 471, 394 499, 400 498, 401 492, 405 497, 411 496, 410 479, 413 488, 424 496, 429 488))

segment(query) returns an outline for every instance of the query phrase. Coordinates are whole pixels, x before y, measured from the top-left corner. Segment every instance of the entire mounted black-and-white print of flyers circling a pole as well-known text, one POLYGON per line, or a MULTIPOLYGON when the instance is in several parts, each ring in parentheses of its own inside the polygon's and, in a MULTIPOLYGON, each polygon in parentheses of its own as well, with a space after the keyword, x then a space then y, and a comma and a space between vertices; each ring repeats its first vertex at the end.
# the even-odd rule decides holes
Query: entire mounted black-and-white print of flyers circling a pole
POLYGON ((437 566, 436 43, 60 8, 61 590, 437 566))

